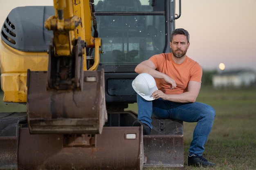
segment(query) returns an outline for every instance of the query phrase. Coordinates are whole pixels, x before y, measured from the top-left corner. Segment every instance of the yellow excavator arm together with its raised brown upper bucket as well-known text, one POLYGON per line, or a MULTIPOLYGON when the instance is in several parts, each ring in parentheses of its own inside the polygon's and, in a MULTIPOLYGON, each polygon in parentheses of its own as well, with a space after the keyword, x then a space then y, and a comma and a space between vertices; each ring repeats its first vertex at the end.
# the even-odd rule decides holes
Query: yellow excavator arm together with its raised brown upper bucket
POLYGON ((48 70, 27 72, 30 133, 102 132, 107 121, 104 71, 83 70, 87 44, 95 47, 94 38, 85 34, 91 28, 92 5, 89 0, 54 0, 55 15, 45 21, 45 28, 53 31, 48 70), (84 13, 90 20, 80 20, 76 9, 79 14, 90 11, 89 16, 84 13))

